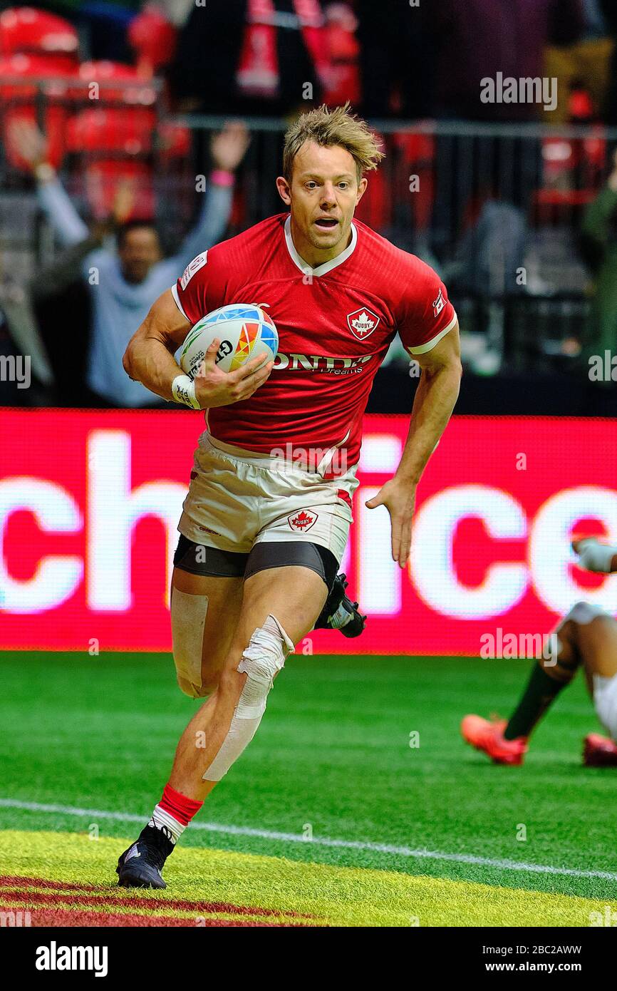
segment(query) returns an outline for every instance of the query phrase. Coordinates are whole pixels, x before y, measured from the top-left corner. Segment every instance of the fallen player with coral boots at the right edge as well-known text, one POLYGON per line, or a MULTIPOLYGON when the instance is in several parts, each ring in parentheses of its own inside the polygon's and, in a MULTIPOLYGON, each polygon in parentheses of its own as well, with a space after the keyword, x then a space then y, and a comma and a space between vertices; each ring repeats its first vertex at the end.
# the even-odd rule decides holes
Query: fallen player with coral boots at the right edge
MULTIPOLYGON (((573 540, 578 563, 587 571, 617 572, 617 547, 595 537, 573 540)), ((509 719, 464 716, 463 738, 496 764, 522 764, 532 729, 581 667, 596 715, 609 734, 589 733, 582 759, 589 767, 617 766, 617 622, 598 606, 576 603, 556 629, 556 652, 540 658, 509 719), (547 663, 547 661, 549 663, 547 663)))

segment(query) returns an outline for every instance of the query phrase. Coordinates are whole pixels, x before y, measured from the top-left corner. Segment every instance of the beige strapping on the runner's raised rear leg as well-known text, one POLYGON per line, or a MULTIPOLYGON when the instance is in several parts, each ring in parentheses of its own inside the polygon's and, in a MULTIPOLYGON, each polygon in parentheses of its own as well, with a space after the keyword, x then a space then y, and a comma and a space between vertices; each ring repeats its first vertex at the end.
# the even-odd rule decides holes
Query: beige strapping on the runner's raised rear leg
POLYGON ((201 657, 208 597, 191 596, 173 589, 170 612, 173 662, 178 685, 185 695, 198 699, 207 694, 201 685, 201 657))

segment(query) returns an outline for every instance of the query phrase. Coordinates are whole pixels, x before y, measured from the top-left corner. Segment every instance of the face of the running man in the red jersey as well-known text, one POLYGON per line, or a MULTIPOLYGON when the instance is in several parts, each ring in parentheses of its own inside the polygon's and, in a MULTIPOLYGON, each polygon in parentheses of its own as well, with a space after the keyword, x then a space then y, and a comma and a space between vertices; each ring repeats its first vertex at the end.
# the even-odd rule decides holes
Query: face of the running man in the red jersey
POLYGON ((299 235, 320 257, 322 252, 334 257, 347 247, 354 210, 366 187, 366 179, 358 181, 349 152, 307 141, 293 160, 291 182, 279 178, 277 185, 291 206, 294 238, 299 235))

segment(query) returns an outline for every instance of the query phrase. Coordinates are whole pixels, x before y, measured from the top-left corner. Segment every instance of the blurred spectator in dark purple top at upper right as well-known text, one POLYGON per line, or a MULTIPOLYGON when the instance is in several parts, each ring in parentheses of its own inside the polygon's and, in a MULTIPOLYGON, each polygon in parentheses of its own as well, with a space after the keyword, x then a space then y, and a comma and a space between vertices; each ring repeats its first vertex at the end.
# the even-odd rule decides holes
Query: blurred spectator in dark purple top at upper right
POLYGON ((429 7, 437 53, 437 113, 467 120, 525 121, 537 103, 482 103, 480 80, 542 78, 548 45, 582 30, 582 0, 439 0, 429 7))

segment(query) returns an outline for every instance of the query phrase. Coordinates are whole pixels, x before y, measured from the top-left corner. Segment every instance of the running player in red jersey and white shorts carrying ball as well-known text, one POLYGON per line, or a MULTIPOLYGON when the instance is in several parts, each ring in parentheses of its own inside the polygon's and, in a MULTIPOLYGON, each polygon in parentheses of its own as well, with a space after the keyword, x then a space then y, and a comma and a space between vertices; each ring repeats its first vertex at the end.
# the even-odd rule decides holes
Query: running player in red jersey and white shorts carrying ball
POLYGON ((460 342, 439 276, 354 221, 364 173, 381 158, 347 106, 301 116, 276 179, 285 212, 194 259, 127 349, 131 378, 207 410, 170 612, 179 686, 208 700, 119 859, 121 885, 165 887, 165 858, 257 732, 274 678, 322 613, 352 521, 362 414, 396 333, 422 375, 398 469, 366 505, 386 507, 393 560, 407 564, 416 487, 459 394, 460 342), (268 307, 275 361, 226 374, 215 341, 191 383, 173 355, 204 314, 235 302, 268 307), (281 449, 291 457, 273 457, 281 449))

